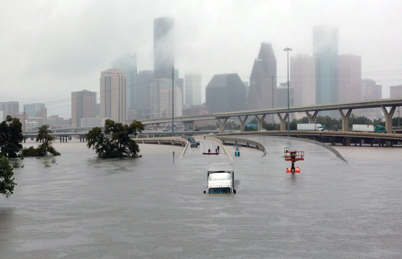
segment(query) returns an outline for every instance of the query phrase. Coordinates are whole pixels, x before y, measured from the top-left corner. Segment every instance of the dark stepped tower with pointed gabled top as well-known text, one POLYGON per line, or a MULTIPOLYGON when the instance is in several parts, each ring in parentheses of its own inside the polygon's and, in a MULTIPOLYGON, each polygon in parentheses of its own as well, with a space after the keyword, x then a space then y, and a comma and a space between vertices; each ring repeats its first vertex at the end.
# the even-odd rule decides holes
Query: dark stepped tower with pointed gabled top
POLYGON ((276 87, 274 86, 276 86, 276 58, 272 45, 263 42, 251 70, 247 109, 273 108, 276 103, 276 87))

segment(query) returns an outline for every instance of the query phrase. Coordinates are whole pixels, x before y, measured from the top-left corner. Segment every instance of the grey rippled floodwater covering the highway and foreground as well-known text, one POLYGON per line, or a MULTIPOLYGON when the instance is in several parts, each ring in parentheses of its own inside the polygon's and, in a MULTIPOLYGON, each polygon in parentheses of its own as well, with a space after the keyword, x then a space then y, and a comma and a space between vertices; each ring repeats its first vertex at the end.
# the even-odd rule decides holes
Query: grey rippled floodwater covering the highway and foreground
POLYGON ((343 148, 345 162, 311 143, 253 139, 266 156, 243 147, 235 157, 226 146, 234 195, 203 193, 211 162, 230 161, 222 150, 202 154, 215 151, 211 140, 181 159, 180 146, 141 144, 142 158, 100 159, 68 142, 55 143, 62 155, 51 167, 18 160, 14 195, 0 197, 0 257, 400 257, 402 148, 343 148), (301 174, 285 173, 284 146, 305 151, 301 174))

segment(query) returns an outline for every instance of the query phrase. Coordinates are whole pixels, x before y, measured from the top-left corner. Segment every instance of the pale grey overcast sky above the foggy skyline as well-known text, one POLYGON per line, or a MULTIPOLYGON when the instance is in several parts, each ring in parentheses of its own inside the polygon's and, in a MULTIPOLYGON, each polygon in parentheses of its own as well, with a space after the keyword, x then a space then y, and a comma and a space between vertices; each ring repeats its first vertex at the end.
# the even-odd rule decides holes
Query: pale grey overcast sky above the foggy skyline
MULTIPOLYGON (((127 53, 153 69, 153 19, 175 19, 175 66, 249 81, 261 42, 272 43, 278 83, 286 52, 313 54, 313 27, 338 27, 339 54, 362 57, 362 77, 402 84, 400 1, 0 1, 0 102, 46 103, 71 117, 71 92, 99 92, 100 71, 127 53)), ((205 91, 203 89, 203 101, 205 91)), ((99 102, 99 100, 97 100, 99 102)))

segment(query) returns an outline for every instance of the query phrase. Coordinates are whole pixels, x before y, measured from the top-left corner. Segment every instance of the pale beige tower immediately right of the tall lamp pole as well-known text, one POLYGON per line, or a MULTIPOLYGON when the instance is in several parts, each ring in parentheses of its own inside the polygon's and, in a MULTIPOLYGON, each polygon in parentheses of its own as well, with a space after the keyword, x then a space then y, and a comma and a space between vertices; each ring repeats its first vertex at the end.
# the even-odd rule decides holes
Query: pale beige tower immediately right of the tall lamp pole
POLYGON ((290 57, 290 81, 290 88, 294 89, 296 97, 293 106, 316 104, 316 60, 314 57, 309 55, 290 57))

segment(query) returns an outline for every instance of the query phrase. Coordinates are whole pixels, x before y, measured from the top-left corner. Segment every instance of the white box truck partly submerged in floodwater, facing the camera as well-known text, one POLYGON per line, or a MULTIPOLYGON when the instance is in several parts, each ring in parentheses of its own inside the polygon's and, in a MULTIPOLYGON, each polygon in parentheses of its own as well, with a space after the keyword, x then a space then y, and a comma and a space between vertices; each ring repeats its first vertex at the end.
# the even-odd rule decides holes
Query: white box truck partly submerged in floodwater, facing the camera
MULTIPOLYGON (((212 163, 207 175, 209 194, 236 193, 233 163, 212 163)), ((204 191, 206 193, 206 191, 204 191)))

